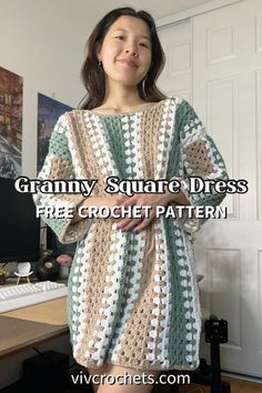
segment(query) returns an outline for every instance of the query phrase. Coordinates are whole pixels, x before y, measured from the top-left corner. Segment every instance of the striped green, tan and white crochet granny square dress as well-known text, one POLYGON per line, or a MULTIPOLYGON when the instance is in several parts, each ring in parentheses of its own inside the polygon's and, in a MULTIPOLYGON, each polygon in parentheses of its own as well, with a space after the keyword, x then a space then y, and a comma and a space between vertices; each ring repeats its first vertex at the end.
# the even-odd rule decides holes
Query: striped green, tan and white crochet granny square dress
MULTIPOLYGON (((97 179, 92 195, 110 196, 107 179, 184 180, 191 204, 219 204, 224 194, 192 194, 189 177, 226 180, 224 162, 192 107, 168 98, 143 111, 98 114, 72 110, 52 132, 39 179, 97 179)), ((81 194, 34 195, 37 205, 73 206, 81 194)), ((62 243, 78 242, 69 276, 73 355, 90 367, 137 370, 199 365, 201 312, 191 233, 202 222, 160 216, 140 233, 109 219, 42 218, 62 243)))

